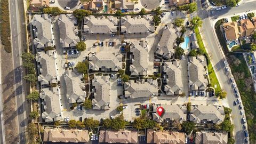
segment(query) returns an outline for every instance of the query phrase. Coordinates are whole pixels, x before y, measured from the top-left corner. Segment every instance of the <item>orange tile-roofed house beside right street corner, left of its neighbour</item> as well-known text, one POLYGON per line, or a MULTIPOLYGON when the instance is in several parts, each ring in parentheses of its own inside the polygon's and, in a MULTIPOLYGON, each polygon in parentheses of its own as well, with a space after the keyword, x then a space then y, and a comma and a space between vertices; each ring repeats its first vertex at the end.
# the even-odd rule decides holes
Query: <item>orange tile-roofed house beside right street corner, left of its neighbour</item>
POLYGON ((228 41, 233 41, 239 37, 239 31, 235 21, 223 23, 222 27, 228 41))

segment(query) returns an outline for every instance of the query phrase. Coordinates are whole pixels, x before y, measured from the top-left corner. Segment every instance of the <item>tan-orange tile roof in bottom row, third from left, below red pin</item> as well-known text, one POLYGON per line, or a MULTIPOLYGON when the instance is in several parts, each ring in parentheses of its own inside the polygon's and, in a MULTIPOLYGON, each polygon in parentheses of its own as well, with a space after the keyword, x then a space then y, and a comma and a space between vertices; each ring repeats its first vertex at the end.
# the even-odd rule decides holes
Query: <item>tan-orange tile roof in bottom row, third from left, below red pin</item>
POLYGON ((147 143, 185 144, 185 133, 172 131, 147 130, 147 143))

